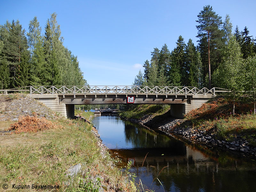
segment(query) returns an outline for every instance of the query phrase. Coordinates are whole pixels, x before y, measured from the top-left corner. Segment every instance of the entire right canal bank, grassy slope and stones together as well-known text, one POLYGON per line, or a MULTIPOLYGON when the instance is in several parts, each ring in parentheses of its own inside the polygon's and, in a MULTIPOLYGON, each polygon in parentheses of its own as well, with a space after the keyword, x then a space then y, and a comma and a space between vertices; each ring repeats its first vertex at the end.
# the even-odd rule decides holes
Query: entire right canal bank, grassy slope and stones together
MULTIPOLYGON (((236 103, 237 114, 231 115, 228 100, 217 97, 190 111, 185 119, 170 116, 170 111, 157 111, 139 116, 136 109, 120 113, 120 116, 147 128, 160 130, 167 135, 195 143, 256 159, 256 121, 250 101, 236 103)), ((143 107, 143 106, 142 106, 143 107)), ((141 108, 141 106, 137 107, 141 108)), ((143 109, 142 109, 143 110, 143 109)))

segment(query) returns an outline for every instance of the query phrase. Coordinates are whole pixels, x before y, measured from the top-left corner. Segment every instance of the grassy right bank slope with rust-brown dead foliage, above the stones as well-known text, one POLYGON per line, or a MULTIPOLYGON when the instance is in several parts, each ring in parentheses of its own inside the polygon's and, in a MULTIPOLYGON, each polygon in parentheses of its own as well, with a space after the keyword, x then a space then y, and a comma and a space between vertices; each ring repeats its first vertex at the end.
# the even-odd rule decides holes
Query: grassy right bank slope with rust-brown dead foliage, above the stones
MULTIPOLYGON (((180 127, 192 125, 194 129, 204 129, 214 133, 219 139, 234 140, 238 135, 256 146, 256 116, 253 112, 252 100, 241 97, 235 104, 235 115, 232 115, 233 103, 226 97, 218 96, 202 105, 201 108, 190 111, 185 115, 180 127)), ((154 119, 164 119, 169 116, 169 107, 165 110, 156 105, 141 105, 120 113, 126 118, 139 119, 143 115, 152 114, 154 119), (165 114, 164 114, 165 113, 165 114)))

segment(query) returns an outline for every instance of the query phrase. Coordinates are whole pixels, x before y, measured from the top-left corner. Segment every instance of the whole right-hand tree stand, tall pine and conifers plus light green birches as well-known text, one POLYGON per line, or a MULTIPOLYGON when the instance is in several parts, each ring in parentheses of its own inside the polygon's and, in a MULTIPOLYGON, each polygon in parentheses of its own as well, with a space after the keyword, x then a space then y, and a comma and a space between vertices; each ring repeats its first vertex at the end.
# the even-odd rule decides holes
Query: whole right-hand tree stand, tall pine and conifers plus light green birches
POLYGON ((213 11, 204 6, 197 15, 198 44, 179 36, 176 47, 170 52, 167 45, 154 48, 151 60, 146 60, 144 74, 134 79, 134 85, 195 86, 198 88, 220 87, 228 89, 233 100, 233 114, 237 96, 246 94, 256 97, 256 40, 244 27, 236 26, 232 33, 229 15, 224 22, 213 11))

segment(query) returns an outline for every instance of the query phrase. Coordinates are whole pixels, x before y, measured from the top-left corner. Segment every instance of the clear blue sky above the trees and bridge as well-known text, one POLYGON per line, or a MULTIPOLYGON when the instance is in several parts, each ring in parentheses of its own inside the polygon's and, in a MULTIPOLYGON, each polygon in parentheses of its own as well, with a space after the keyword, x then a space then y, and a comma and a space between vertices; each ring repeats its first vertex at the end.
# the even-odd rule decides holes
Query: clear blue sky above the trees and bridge
POLYGON ((77 55, 90 85, 131 85, 154 47, 166 43, 171 51, 180 35, 197 44, 197 15, 207 4, 223 20, 229 14, 233 30, 246 26, 255 38, 255 0, 2 0, 0 24, 19 20, 28 32, 29 21, 37 16, 44 32, 56 12, 63 44, 77 55))

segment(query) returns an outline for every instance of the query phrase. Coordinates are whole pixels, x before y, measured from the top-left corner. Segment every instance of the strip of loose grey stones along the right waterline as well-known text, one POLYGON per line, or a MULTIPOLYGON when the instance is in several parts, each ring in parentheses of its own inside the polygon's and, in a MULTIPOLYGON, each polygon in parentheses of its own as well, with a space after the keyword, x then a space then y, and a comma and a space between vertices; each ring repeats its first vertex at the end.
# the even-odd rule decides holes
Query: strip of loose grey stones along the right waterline
POLYGON ((176 136, 186 141, 206 145, 209 148, 219 148, 222 150, 229 150, 240 153, 242 156, 247 156, 256 159, 256 147, 242 136, 237 135, 232 141, 218 140, 217 135, 210 131, 194 129, 193 126, 181 127, 177 123, 182 123, 182 119, 170 118, 160 124, 151 124, 154 117, 152 115, 143 116, 141 119, 129 119, 132 122, 146 126, 147 128, 154 128, 164 132, 167 135, 176 136))

